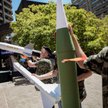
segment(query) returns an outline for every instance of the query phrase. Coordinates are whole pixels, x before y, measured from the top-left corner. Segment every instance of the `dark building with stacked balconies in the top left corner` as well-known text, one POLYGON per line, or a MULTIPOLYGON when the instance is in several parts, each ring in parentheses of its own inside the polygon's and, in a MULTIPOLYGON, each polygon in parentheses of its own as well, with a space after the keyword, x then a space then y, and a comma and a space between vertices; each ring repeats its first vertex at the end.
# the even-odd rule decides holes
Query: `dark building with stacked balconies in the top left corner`
POLYGON ((12 20, 12 0, 0 0, 0 25, 12 20))

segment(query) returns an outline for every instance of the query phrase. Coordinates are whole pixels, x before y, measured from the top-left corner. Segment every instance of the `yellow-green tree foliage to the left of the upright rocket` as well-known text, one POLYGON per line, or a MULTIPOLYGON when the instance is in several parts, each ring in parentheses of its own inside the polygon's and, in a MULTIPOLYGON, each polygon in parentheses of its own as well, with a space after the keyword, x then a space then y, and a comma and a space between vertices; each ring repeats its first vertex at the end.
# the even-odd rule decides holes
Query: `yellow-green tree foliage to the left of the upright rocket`
POLYGON ((14 41, 25 46, 29 42, 39 49, 43 45, 55 48, 55 5, 31 5, 16 15, 17 21, 11 24, 16 34, 14 41))

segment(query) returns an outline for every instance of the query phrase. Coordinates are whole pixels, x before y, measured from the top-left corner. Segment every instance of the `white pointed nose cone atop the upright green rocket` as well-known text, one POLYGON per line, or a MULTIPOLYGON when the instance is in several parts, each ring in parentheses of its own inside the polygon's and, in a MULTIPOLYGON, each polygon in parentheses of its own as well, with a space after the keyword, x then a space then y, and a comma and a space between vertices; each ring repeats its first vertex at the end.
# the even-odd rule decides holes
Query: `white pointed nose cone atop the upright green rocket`
POLYGON ((68 27, 62 0, 57 0, 56 29, 68 27))

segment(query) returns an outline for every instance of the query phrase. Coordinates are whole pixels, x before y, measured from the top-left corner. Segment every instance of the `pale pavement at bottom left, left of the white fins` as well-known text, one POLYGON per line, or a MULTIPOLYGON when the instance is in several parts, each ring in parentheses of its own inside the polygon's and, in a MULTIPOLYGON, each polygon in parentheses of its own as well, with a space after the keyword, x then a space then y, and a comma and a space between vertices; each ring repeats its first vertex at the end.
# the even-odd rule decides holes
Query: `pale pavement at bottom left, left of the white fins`
POLYGON ((0 84, 0 108, 43 108, 40 92, 31 84, 0 84))

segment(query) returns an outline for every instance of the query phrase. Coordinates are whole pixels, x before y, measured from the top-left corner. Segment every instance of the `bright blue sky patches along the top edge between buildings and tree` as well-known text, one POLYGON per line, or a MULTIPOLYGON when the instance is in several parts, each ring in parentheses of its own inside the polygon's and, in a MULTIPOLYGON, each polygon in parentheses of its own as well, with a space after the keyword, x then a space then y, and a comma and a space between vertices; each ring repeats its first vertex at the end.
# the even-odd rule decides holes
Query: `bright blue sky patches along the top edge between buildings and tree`
MULTIPOLYGON (((39 1, 39 2, 48 2, 48 0, 33 0, 33 1, 39 1)), ((49 0, 51 1, 51 0, 49 0)), ((55 0, 53 0, 55 1, 55 0)), ((15 16, 15 11, 17 10, 21 0, 12 0, 12 11, 13 11, 13 17, 15 16)), ((71 3, 71 0, 63 0, 63 3, 71 3)))

